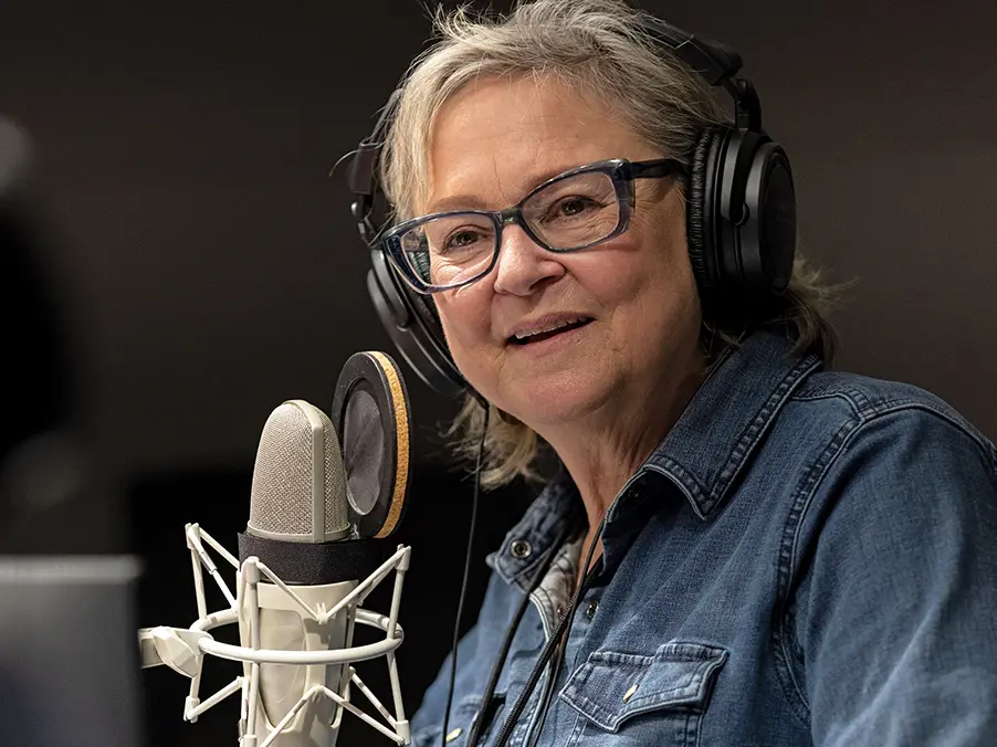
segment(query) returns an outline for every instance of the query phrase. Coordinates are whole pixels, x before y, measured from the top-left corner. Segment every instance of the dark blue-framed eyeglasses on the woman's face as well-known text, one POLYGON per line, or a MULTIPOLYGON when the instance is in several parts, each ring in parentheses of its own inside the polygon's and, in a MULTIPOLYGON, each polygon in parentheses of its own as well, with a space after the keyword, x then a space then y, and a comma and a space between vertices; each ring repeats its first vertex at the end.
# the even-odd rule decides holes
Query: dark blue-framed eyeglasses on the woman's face
POLYGON ((403 221, 381 246, 418 293, 431 294, 484 277, 498 259, 502 229, 515 223, 549 252, 576 252, 623 233, 634 204, 634 179, 686 176, 672 158, 598 161, 542 183, 505 210, 454 210, 403 221))

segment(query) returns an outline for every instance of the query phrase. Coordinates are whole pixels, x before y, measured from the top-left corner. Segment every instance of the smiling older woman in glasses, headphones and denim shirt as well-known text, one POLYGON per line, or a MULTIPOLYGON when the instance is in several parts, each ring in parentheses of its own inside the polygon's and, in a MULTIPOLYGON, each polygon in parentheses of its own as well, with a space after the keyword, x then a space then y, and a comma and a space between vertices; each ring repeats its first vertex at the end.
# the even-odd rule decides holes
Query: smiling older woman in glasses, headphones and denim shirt
POLYGON ((431 298, 485 483, 562 469, 414 743, 997 744, 997 453, 924 391, 825 370, 749 84, 713 129, 681 34, 611 0, 439 25, 389 112, 378 251, 431 298), (731 189, 762 192, 717 218, 737 137, 764 168, 731 189))

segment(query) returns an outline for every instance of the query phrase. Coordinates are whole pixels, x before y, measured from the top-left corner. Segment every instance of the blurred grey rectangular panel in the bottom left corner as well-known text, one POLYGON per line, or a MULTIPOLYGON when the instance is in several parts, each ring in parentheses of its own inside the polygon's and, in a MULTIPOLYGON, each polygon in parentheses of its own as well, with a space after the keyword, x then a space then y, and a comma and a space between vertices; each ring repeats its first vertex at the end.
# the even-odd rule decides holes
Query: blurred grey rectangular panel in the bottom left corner
POLYGON ((116 557, 0 558, 0 745, 136 747, 134 590, 116 557))

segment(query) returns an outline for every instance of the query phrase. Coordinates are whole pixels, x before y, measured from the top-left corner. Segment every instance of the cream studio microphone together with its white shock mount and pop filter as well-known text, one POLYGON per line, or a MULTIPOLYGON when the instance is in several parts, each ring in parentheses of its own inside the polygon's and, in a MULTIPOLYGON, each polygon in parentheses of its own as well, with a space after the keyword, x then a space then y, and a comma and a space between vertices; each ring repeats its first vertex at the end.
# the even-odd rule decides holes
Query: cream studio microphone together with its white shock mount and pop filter
POLYGON ((333 747, 345 712, 397 745, 411 740, 395 659, 403 640, 398 614, 411 548, 399 545, 384 559, 380 541, 398 525, 409 472, 408 403, 395 361, 380 353, 351 357, 337 383, 333 417, 335 425, 302 400, 271 413, 260 436, 239 557, 188 524, 198 619, 189 628, 139 631, 144 667, 166 664, 191 678, 186 720, 241 694, 241 747, 333 747), (345 467, 340 443, 347 444, 345 467), (209 550, 235 569, 234 593, 209 550), (390 612, 365 609, 392 571, 390 612), (206 576, 221 589, 227 608, 209 612, 206 576), (239 625, 240 645, 211 634, 231 623, 239 625), (355 625, 384 638, 355 644, 355 625), (242 674, 202 701, 206 654, 241 662, 242 674), (379 657, 388 664, 393 713, 353 666, 379 657), (351 693, 365 696, 379 718, 358 708, 351 693))

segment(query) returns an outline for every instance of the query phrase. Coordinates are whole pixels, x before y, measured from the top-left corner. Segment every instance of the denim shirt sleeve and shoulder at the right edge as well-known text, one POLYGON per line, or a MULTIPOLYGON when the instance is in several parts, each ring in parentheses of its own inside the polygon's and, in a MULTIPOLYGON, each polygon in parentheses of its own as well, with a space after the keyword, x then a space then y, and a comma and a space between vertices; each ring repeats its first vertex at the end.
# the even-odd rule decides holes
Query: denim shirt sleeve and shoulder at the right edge
POLYGON ((784 545, 791 581, 777 635, 814 734, 848 725, 871 744, 896 729, 896 744, 922 744, 956 728, 973 733, 965 744, 993 744, 982 714, 997 692, 994 445, 910 385, 821 374, 797 394, 839 422, 784 545))

